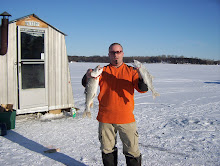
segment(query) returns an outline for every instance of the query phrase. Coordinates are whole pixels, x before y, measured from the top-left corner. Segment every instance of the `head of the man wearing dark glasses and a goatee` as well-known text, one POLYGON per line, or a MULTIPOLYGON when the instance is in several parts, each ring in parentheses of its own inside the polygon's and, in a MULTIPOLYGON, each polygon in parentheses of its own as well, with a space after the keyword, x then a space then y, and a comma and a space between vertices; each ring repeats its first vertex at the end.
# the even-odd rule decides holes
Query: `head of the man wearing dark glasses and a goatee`
POLYGON ((109 53, 108 56, 110 58, 110 63, 115 66, 119 67, 123 63, 123 47, 119 43, 113 43, 109 46, 109 53))

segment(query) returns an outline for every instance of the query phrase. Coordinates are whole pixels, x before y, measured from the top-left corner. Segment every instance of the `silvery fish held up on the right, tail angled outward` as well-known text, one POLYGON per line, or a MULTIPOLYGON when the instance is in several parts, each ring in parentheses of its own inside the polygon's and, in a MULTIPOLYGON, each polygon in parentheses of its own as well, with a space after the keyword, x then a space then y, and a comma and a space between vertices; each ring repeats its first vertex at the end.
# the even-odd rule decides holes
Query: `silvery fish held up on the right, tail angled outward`
POLYGON ((160 96, 158 92, 154 89, 153 86, 153 76, 149 73, 149 71, 146 69, 146 67, 139 61, 134 60, 134 67, 139 69, 140 75, 144 81, 144 83, 148 86, 148 89, 151 90, 153 99, 155 99, 157 96, 160 96))

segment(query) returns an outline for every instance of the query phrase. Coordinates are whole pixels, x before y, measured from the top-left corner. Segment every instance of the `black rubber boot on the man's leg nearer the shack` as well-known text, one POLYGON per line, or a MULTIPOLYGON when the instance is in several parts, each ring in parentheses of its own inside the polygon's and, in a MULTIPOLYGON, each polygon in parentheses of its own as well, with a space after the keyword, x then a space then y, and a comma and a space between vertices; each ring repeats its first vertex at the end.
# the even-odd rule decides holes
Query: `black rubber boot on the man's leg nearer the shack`
POLYGON ((117 166, 118 164, 117 148, 112 153, 105 154, 102 152, 102 161, 103 161, 104 166, 117 166))

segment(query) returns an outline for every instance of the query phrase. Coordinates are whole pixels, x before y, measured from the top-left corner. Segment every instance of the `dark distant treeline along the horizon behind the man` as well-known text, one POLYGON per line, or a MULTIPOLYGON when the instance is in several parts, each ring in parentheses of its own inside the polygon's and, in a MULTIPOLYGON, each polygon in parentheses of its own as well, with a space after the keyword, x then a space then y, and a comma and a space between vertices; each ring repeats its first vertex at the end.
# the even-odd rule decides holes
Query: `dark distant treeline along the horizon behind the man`
MULTIPOLYGON (((161 56, 132 56, 124 57, 125 63, 132 63, 138 60, 146 63, 171 63, 171 64, 204 64, 204 65, 219 65, 219 61, 199 58, 187 58, 184 56, 172 56, 172 55, 161 55, 161 56)), ((68 56, 69 62, 99 62, 109 63, 108 56, 68 56)))

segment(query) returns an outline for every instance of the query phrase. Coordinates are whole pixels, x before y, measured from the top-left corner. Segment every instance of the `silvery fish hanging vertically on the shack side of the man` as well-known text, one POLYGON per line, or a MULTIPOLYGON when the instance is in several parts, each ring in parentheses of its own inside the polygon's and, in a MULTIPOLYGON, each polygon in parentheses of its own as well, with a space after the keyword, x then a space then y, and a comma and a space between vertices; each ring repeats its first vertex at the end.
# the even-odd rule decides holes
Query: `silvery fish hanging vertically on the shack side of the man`
POLYGON ((89 117, 91 118, 91 111, 90 108, 93 106, 93 100, 97 94, 98 85, 99 85, 99 77, 102 74, 103 68, 99 65, 92 70, 91 78, 87 78, 87 84, 85 87, 85 95, 86 95, 86 102, 85 102, 85 111, 83 113, 83 118, 89 117))

